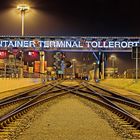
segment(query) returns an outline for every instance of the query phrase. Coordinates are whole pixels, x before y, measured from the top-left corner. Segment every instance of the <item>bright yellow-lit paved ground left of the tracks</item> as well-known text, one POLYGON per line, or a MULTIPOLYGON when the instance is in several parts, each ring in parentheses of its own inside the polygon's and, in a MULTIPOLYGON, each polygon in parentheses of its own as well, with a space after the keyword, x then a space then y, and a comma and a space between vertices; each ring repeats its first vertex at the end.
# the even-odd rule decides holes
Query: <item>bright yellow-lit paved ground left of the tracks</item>
POLYGON ((0 99, 31 89, 39 84, 41 84, 39 78, 0 78, 0 99))

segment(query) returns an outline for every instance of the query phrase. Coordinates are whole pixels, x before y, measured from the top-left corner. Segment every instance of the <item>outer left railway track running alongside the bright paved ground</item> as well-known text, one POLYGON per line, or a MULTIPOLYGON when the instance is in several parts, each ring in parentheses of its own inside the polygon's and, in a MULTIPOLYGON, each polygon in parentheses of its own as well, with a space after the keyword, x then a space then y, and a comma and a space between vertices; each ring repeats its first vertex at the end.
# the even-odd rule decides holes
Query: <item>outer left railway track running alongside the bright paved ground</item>
POLYGON ((51 83, 48 85, 43 85, 43 86, 34 88, 32 90, 21 92, 15 96, 11 96, 9 98, 1 100, 0 101, 0 110, 1 110, 0 118, 3 115, 14 110, 15 108, 18 108, 19 106, 22 106, 23 104, 26 104, 26 102, 32 100, 33 98, 35 98, 41 93, 44 93, 45 91, 48 91, 48 94, 57 91, 57 90, 49 91, 48 89, 50 87, 52 87, 51 83))

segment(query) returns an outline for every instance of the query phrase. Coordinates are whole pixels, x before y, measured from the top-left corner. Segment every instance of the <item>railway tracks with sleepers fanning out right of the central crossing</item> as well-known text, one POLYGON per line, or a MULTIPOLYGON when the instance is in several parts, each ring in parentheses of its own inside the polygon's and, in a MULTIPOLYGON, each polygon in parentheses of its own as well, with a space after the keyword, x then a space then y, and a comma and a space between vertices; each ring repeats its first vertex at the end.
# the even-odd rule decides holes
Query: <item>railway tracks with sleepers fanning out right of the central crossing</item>
MULTIPOLYGON (((119 117, 117 119, 122 126, 130 128, 132 136, 140 139, 140 102, 107 89, 97 92, 94 90, 94 86, 87 82, 82 85, 85 88, 72 91, 72 93, 109 109, 119 117)), ((100 87, 99 89, 102 90, 100 87)))

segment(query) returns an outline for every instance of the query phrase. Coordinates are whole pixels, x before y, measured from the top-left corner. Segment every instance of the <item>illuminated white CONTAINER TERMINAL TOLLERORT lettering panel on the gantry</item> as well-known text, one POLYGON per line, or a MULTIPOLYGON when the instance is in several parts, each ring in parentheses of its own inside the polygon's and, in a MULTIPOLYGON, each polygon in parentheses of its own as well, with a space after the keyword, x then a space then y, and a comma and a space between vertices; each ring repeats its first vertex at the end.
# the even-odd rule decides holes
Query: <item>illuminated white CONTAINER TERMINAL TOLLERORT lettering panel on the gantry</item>
POLYGON ((49 48, 132 48, 140 46, 140 41, 73 41, 73 40, 45 40, 45 41, 32 41, 32 40, 0 40, 0 47, 39 47, 44 49, 49 48))

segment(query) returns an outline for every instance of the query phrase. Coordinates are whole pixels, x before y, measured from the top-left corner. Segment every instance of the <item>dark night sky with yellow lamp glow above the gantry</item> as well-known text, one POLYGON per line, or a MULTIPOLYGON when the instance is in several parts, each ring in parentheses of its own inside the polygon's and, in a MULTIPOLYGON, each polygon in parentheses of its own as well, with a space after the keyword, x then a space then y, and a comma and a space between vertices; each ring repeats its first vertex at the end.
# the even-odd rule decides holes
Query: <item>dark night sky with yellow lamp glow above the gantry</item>
MULTIPOLYGON (((0 34, 20 35, 23 0, 0 5, 0 34)), ((26 35, 139 36, 139 0, 26 0, 26 35)))

